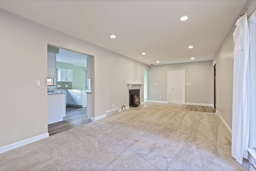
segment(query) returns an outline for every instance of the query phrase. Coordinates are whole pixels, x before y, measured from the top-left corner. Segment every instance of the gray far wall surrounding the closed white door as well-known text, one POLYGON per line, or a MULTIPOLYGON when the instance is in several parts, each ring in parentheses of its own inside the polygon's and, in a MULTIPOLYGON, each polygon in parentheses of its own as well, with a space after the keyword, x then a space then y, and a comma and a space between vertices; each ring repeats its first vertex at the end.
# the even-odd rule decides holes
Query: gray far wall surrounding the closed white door
POLYGON ((149 68, 148 100, 167 101, 167 70, 185 68, 185 103, 213 104, 212 61, 158 65, 149 68), (162 99, 159 99, 160 96, 162 99))

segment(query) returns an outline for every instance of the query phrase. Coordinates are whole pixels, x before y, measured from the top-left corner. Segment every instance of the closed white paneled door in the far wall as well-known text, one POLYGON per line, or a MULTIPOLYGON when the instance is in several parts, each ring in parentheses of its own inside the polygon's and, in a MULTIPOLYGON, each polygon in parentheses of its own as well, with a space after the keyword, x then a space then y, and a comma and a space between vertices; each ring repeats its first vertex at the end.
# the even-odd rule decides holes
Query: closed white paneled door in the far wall
POLYGON ((184 69, 168 70, 168 103, 184 104, 184 69))

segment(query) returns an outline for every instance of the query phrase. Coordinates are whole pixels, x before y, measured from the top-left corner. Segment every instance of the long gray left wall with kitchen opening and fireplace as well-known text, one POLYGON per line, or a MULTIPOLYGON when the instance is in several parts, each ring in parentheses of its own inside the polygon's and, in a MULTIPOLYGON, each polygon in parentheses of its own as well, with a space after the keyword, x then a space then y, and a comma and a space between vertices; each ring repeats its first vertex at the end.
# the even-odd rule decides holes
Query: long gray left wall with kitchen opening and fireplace
POLYGON ((104 115, 112 104, 128 106, 127 83, 143 83, 148 70, 140 62, 1 9, 0 23, 0 73, 7 83, 0 85, 0 147, 48 132, 48 44, 94 56, 92 117, 104 115), (39 87, 35 80, 41 81, 39 87))

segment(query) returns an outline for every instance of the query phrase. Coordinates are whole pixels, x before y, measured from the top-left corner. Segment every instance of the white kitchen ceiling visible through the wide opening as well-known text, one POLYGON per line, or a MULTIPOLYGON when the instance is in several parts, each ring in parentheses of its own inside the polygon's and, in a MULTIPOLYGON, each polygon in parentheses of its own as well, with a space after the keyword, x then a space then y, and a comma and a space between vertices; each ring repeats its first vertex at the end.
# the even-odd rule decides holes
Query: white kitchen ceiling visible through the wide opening
POLYGON ((59 48, 56 61, 86 67, 86 55, 59 48))

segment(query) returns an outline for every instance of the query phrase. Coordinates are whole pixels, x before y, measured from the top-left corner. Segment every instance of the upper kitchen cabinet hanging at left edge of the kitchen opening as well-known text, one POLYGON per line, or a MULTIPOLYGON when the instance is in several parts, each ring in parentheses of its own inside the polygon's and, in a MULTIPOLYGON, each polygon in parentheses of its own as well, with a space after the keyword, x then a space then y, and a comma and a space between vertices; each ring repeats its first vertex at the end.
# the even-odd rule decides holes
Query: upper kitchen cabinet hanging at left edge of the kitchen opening
POLYGON ((56 54, 47 52, 47 78, 56 78, 56 54))

